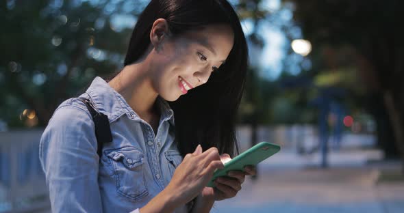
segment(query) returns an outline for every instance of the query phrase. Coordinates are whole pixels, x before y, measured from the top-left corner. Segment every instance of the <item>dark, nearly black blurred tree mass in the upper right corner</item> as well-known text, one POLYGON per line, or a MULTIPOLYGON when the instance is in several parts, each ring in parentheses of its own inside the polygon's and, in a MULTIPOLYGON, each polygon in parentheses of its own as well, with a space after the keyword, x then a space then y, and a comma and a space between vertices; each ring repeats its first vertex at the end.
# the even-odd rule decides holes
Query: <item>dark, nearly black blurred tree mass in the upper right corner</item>
POLYGON ((401 153, 404 171, 404 2, 291 1, 294 20, 329 68, 340 65, 333 52, 351 48, 350 59, 366 87, 362 105, 375 116, 386 154, 401 153))

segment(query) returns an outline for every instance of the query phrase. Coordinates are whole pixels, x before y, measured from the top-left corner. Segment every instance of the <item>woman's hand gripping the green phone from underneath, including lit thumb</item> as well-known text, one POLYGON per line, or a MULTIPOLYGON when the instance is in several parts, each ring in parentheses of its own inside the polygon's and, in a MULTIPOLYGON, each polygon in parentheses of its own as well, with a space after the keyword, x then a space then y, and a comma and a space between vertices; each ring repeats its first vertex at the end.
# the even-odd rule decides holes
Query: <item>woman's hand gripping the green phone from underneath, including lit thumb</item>
MULTIPOLYGON (((220 160, 225 163, 231 160, 231 158, 228 154, 223 154, 220 156, 220 160)), ((235 197, 238 191, 241 190, 241 185, 245 180, 245 176, 255 175, 256 173, 257 171, 253 166, 244 167, 244 171, 229 171, 226 177, 216 178, 214 181, 214 188, 203 188, 202 197, 214 199, 215 201, 235 197)))

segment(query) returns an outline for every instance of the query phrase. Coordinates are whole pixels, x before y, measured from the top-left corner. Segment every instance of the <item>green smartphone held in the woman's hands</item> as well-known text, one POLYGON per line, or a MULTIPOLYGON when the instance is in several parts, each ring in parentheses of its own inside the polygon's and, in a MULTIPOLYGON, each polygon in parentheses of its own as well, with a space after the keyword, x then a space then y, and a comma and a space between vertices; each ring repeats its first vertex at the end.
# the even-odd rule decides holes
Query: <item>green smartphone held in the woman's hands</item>
POLYGON ((225 162, 225 168, 218 169, 213 173, 213 177, 210 182, 207 183, 207 186, 214 187, 214 180, 220 176, 226 176, 228 171, 236 170, 236 171, 244 171, 244 167, 248 165, 256 166, 262 160, 273 156, 273 154, 279 152, 281 147, 279 145, 261 142, 253 147, 249 148, 242 154, 239 154, 235 158, 225 162))

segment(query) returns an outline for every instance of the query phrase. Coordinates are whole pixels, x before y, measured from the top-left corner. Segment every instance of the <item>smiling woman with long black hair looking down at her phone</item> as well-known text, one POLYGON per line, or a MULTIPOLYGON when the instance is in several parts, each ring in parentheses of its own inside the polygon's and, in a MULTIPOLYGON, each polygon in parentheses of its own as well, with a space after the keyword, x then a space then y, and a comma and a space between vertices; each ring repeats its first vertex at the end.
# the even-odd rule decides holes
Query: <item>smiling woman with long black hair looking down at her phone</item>
POLYGON ((214 201, 236 196, 253 167, 205 187, 236 147, 247 44, 231 5, 152 0, 124 65, 79 97, 108 116, 112 143, 101 156, 79 98, 63 102, 42 135, 53 212, 209 212, 214 201))

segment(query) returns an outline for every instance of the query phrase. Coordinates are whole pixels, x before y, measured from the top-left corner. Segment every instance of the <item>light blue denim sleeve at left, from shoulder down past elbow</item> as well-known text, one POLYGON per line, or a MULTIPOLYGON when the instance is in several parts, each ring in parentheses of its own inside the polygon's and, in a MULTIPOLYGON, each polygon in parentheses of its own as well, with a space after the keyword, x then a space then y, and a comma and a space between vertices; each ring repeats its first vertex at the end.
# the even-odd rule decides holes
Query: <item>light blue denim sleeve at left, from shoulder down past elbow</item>
POLYGON ((52 212, 102 212, 94 123, 78 106, 55 111, 40 139, 52 212))

